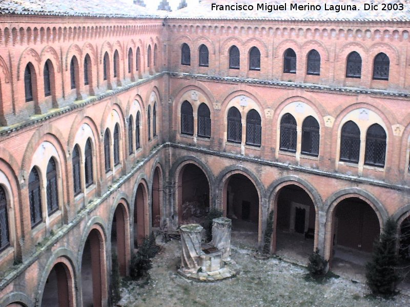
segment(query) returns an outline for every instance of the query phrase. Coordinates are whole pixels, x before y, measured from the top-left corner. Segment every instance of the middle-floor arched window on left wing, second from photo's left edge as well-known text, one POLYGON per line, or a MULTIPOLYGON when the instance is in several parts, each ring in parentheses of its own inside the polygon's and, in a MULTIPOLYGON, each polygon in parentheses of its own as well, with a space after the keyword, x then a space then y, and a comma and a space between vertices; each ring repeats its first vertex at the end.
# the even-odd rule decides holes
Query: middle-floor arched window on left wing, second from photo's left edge
POLYGON ((32 168, 29 176, 29 202, 31 228, 34 228, 43 221, 40 178, 34 167, 32 168))

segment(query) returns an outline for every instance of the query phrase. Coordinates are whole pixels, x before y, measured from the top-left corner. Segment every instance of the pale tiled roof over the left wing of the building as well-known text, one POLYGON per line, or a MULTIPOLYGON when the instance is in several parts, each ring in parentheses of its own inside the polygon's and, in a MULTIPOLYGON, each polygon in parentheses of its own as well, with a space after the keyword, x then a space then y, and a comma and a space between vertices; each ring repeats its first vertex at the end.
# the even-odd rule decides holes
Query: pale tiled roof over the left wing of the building
POLYGON ((163 12, 135 5, 132 0, 0 0, 1 14, 93 17, 159 17, 163 12))

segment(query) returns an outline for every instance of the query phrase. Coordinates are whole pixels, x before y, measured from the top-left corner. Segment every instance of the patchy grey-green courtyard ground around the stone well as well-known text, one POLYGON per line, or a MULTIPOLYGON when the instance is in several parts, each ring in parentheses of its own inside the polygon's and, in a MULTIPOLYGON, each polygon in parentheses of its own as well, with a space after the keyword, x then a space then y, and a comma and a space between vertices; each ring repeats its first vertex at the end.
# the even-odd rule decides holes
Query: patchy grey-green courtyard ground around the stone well
POLYGON ((368 288, 346 277, 324 283, 304 278, 299 265, 270 258, 255 259, 252 233, 232 234, 232 259, 240 274, 215 283, 198 283, 180 277, 180 242, 171 240, 153 259, 151 278, 145 285, 124 281, 120 306, 410 306, 410 297, 399 294, 385 300, 369 295, 368 288))

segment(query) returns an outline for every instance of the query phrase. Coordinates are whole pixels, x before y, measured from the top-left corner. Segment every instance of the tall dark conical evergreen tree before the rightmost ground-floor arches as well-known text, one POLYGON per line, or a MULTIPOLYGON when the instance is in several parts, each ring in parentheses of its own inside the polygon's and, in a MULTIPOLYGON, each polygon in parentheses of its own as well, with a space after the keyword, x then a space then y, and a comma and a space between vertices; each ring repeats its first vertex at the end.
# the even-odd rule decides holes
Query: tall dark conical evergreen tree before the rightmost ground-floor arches
POLYGON ((395 294, 396 282, 399 281, 397 267, 397 224, 388 218, 380 239, 373 245, 372 260, 366 264, 367 285, 373 294, 395 294))

